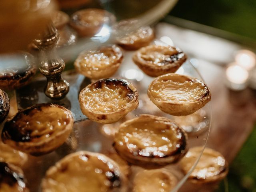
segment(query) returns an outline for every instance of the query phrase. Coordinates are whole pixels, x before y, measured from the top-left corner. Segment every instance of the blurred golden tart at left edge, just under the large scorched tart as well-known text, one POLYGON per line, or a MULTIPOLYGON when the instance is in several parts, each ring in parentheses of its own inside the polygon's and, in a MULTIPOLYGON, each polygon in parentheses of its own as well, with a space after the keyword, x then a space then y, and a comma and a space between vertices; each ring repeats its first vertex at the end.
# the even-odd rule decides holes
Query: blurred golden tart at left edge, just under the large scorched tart
POLYGON ((0 141, 0 162, 7 162, 16 166, 22 166, 28 160, 28 155, 0 141))

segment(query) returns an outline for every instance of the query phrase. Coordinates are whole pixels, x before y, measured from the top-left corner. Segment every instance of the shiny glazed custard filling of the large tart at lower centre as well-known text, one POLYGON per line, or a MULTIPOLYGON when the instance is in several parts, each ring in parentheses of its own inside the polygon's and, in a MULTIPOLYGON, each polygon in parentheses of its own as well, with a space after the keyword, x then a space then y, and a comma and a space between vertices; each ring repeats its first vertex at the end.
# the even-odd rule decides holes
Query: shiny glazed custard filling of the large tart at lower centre
MULTIPOLYGON (((146 115, 148 116, 148 115, 146 115)), ((180 140, 184 135, 175 122, 156 119, 156 116, 129 120, 115 134, 115 143, 134 156, 165 157, 183 148, 180 140)))

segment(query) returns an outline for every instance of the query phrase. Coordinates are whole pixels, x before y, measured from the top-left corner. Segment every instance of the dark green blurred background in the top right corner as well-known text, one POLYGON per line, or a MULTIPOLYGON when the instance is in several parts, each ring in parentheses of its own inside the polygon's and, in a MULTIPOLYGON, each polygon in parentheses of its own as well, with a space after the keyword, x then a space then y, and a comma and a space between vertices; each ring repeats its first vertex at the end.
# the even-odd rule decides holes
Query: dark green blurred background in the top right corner
POLYGON ((179 0, 170 15, 256 39, 256 0, 179 0))

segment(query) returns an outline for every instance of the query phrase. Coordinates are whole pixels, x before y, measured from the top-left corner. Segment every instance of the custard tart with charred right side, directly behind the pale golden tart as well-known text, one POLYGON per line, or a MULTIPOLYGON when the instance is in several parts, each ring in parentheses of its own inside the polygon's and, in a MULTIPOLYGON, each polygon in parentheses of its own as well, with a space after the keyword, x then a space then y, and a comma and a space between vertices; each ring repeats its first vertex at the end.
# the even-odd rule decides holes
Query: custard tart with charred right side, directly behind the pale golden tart
POLYGON ((172 46, 149 45, 140 48, 132 60, 148 76, 174 73, 186 61, 186 54, 172 46))

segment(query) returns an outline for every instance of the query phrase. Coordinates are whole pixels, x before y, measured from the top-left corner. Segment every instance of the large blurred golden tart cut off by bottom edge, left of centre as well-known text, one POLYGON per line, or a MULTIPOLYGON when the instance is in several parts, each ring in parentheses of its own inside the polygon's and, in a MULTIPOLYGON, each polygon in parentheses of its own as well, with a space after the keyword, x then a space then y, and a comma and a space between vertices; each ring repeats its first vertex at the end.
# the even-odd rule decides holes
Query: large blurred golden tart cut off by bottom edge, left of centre
POLYGON ((113 160, 103 154, 80 151, 48 169, 42 192, 126 192, 126 182, 113 160))

